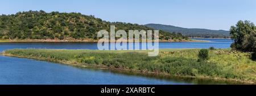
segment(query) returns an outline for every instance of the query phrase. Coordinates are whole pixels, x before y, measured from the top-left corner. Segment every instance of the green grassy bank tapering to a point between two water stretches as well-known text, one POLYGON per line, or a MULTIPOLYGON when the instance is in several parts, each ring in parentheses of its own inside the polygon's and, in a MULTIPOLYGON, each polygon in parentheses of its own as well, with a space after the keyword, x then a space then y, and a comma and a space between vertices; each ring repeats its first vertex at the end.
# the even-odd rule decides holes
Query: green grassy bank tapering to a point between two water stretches
POLYGON ((10 49, 2 55, 61 62, 81 67, 133 70, 167 76, 210 78, 233 82, 256 83, 256 61, 250 53, 216 49, 208 61, 197 61, 199 49, 161 49, 159 56, 147 51, 95 51, 72 49, 10 49))

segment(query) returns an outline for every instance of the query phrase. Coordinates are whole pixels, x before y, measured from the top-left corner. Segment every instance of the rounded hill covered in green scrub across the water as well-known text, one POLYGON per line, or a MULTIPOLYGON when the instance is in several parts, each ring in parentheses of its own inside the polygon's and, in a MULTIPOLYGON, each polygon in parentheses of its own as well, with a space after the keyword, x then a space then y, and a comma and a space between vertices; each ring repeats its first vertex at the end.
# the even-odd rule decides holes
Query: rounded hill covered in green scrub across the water
MULTIPOLYGON (((139 24, 106 22, 80 13, 27 11, 0 15, 0 39, 93 39, 97 32, 114 25, 117 30, 154 30, 139 24)), ((181 34, 159 31, 160 40, 188 39, 181 34)))

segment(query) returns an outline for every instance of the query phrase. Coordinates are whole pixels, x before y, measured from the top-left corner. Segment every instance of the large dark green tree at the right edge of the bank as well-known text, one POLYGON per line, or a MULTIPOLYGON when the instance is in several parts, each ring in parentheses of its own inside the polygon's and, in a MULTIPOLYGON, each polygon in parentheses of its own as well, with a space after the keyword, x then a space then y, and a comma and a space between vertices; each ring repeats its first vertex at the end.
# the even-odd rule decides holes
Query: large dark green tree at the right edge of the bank
POLYGON ((230 28, 234 43, 231 47, 244 52, 256 52, 256 26, 248 20, 238 21, 230 28))

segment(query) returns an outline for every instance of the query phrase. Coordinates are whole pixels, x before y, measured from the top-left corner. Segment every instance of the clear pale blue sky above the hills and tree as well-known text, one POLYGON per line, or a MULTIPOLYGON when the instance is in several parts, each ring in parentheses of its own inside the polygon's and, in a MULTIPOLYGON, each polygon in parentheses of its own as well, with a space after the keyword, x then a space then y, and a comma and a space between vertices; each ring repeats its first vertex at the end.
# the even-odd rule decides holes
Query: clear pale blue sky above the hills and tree
POLYGON ((159 23, 229 30, 238 20, 256 23, 255 0, 1 0, 0 14, 18 11, 81 12, 110 22, 159 23))

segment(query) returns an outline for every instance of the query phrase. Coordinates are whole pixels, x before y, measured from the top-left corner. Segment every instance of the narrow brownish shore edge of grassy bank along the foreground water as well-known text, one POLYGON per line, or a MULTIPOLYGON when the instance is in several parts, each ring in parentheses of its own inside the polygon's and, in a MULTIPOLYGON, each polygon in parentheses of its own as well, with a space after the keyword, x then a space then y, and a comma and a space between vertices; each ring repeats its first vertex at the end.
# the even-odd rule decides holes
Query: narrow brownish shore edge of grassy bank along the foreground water
POLYGON ((255 81, 251 80, 239 80, 235 78, 222 78, 222 77, 210 77, 210 76, 180 76, 180 75, 173 75, 170 73, 165 73, 165 72, 151 72, 148 70, 137 70, 137 69, 127 69, 127 68, 115 68, 114 66, 106 66, 103 64, 84 64, 80 63, 77 61, 67 61, 67 60, 56 60, 56 59, 49 59, 46 57, 34 57, 34 56, 19 56, 19 55, 12 55, 10 53, 6 53, 3 51, 0 53, 3 56, 11 56, 11 57, 20 57, 20 58, 26 58, 26 59, 35 59, 35 60, 42 60, 42 61, 49 61, 49 62, 56 62, 60 64, 65 64, 65 65, 72 65, 76 66, 79 68, 96 68, 96 69, 102 69, 102 70, 114 70, 114 71, 120 71, 120 72, 135 72, 138 74, 155 74, 155 75, 162 75, 162 76, 167 76, 167 77, 179 77, 179 78, 195 78, 199 80, 213 80, 216 82, 220 81, 225 81, 225 82, 230 82, 233 84, 255 84, 255 81))

